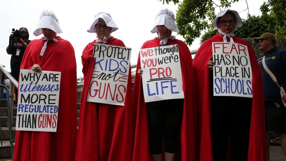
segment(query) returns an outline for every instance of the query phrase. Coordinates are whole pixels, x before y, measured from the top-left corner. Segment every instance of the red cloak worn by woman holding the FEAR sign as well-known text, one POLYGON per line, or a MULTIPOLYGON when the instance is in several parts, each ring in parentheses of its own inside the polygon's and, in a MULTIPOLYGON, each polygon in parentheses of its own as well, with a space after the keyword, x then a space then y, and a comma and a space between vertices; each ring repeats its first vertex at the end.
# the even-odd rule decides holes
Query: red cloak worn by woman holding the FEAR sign
MULTIPOLYGON (((251 112, 251 126, 248 148, 248 161, 266 160, 266 130, 263 86, 260 67, 251 45, 243 39, 233 37, 235 43, 248 47, 252 71, 253 103, 251 112)), ((200 160, 212 161, 211 140, 211 104, 209 69, 207 62, 212 58, 212 42, 223 42, 217 33, 212 38, 205 40, 198 49, 194 59, 194 73, 197 83, 198 99, 198 128, 200 137, 200 160)))

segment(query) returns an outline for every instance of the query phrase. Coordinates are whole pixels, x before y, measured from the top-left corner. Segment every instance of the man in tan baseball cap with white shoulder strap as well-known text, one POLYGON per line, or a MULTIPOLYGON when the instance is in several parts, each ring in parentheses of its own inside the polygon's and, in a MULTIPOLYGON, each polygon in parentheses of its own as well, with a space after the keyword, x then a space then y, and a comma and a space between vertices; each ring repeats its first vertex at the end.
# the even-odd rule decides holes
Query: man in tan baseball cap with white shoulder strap
MULTIPOLYGON (((286 89, 286 50, 276 49, 276 39, 272 33, 263 33, 259 38, 254 38, 254 41, 264 54, 263 57, 258 59, 258 64, 263 81, 266 129, 279 134, 285 155, 286 97, 284 92, 280 93, 280 90, 283 91, 282 88, 286 89)), ((267 145, 269 157, 269 138, 267 139, 267 145)))

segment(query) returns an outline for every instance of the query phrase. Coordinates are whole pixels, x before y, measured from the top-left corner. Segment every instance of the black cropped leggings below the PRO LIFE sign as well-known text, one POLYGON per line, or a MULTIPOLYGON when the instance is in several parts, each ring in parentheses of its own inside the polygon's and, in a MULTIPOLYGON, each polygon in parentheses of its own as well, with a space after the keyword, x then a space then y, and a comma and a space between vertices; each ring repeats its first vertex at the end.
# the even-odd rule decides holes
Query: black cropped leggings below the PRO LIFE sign
POLYGON ((149 151, 162 153, 164 136, 165 152, 177 153, 184 99, 171 99, 147 103, 149 151))

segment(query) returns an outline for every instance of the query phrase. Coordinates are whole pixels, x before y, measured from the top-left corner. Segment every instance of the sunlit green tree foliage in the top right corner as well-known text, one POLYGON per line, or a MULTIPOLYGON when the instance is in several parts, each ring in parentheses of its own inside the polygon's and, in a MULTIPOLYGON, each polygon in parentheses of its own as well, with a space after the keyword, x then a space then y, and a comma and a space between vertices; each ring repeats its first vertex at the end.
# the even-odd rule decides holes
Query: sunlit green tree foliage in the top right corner
POLYGON ((286 0, 268 0, 260 7, 261 19, 275 36, 286 38, 286 0))

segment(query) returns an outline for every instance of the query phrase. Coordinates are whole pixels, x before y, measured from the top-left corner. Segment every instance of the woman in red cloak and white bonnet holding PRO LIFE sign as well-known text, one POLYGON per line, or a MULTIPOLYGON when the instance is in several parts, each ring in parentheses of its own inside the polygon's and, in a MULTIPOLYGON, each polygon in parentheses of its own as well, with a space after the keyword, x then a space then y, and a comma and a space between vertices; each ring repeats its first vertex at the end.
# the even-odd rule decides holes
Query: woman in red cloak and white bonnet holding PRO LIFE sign
POLYGON ((161 10, 152 33, 159 37, 146 41, 143 48, 178 44, 184 99, 169 99, 145 103, 142 87, 140 55, 135 75, 133 103, 137 108, 133 161, 196 160, 195 82, 192 58, 187 45, 171 36, 178 32, 174 13, 161 10), (164 136, 164 143, 163 143, 164 136), (164 144, 164 148, 162 147, 164 144), (165 151, 162 156, 162 149, 165 151), (151 154, 151 155, 150 155, 151 154))

